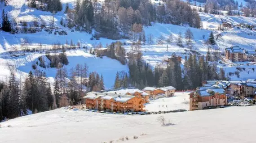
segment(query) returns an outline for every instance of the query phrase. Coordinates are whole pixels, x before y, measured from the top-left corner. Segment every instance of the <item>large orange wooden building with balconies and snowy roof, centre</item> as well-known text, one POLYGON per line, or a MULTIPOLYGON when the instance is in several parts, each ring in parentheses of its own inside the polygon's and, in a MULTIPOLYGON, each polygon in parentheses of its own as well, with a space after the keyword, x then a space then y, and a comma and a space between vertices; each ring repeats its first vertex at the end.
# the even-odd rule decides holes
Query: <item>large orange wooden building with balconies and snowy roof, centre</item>
POLYGON ((108 112, 141 112, 144 111, 145 99, 118 93, 90 92, 84 97, 86 109, 108 112))

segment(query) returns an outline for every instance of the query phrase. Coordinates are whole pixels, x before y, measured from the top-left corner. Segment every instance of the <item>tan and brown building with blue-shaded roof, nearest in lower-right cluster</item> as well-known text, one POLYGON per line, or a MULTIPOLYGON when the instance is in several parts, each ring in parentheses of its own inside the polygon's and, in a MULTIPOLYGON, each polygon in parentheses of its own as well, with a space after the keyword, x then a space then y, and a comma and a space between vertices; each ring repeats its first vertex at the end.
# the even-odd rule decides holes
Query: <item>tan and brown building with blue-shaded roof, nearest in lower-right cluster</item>
POLYGON ((223 88, 202 87, 190 93, 190 110, 216 108, 227 105, 223 88))

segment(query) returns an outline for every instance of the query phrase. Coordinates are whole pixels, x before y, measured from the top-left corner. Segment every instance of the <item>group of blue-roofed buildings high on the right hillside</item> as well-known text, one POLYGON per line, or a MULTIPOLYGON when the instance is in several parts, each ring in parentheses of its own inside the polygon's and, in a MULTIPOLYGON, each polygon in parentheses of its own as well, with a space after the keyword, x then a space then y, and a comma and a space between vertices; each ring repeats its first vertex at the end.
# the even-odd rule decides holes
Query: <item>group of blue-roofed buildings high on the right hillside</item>
POLYGON ((256 50, 243 50, 238 46, 226 48, 225 56, 232 62, 256 62, 256 50))

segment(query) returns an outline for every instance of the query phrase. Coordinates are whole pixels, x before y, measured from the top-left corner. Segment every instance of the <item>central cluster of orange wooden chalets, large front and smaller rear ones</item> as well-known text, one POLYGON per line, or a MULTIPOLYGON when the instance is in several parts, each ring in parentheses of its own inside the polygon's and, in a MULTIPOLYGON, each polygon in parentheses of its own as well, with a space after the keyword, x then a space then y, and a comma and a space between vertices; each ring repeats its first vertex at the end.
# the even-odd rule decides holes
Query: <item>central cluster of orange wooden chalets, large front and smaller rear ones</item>
POLYGON ((103 92, 87 93, 85 98, 86 109, 94 109, 108 112, 142 112, 145 103, 150 98, 172 97, 175 93, 172 86, 153 88, 146 87, 143 90, 126 88, 103 92))

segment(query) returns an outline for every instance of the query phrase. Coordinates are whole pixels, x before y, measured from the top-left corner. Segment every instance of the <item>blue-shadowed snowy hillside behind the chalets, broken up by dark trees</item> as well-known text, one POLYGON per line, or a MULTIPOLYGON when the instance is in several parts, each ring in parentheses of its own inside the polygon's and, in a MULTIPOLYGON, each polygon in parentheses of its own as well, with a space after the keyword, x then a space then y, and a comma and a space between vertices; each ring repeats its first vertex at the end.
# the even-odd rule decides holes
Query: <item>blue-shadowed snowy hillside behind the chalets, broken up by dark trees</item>
MULTIPOLYGON (((6 67, 6 63, 16 63, 18 69, 18 77, 24 77, 28 71, 32 70, 31 65, 35 63, 35 59, 37 59, 40 54, 28 54, 24 57, 18 58, 10 58, 5 55, 8 51, 13 50, 13 46, 17 46, 18 49, 21 48, 20 44, 24 39, 28 39, 31 42, 29 47, 38 48, 39 43, 42 43, 43 48, 47 49, 52 47, 53 43, 60 42, 61 44, 66 43, 66 41, 70 42, 71 40, 76 44, 80 42, 82 46, 92 47, 93 45, 102 43, 102 46, 109 45, 111 42, 115 40, 110 40, 106 38, 100 38, 99 40, 90 40, 92 37, 91 34, 85 32, 73 31, 63 27, 60 25, 61 18, 65 16, 64 9, 66 7, 66 3, 70 6, 70 8, 74 7, 75 0, 61 0, 63 10, 62 12, 58 12, 53 15, 50 12, 43 12, 40 10, 36 10, 35 8, 29 8, 27 6, 28 2, 26 0, 10 0, 9 5, 4 7, 2 3, 0 5, 0 11, 4 8, 4 10, 9 13, 15 21, 27 21, 31 22, 35 18, 44 19, 47 24, 53 20, 54 17, 54 25, 61 28, 61 30, 66 31, 67 35, 54 35, 49 34, 49 32, 42 31, 37 32, 35 34, 10 34, 3 31, 0 31, 0 66, 5 69, 0 74, 1 80, 5 80, 6 77, 9 76, 8 67, 6 67)), ((153 3, 158 4, 159 1, 152 0, 153 3)), ((243 2, 243 0, 239 0, 238 3, 243 2)), ((163 59, 172 55, 172 53, 176 53, 176 55, 180 55, 183 59, 185 59, 185 55, 189 55, 189 49, 181 48, 176 45, 176 38, 178 37, 179 32, 181 32, 183 37, 183 42, 185 45, 185 31, 187 29, 191 29, 194 34, 193 41, 193 50, 198 51, 201 55, 205 55, 208 49, 208 45, 204 42, 205 39, 209 37, 209 34, 212 30, 216 30, 218 25, 223 21, 227 21, 232 23, 233 25, 239 24, 241 22, 248 23, 252 25, 256 25, 256 18, 253 17, 239 17, 239 16, 221 16, 221 15, 212 15, 207 13, 199 13, 202 23, 203 29, 195 29, 188 27, 186 25, 172 25, 172 24, 160 24, 160 23, 152 23, 152 26, 145 26, 145 35, 153 35, 152 45, 143 45, 141 47, 141 51, 143 52, 143 59, 146 60, 147 63, 150 63, 152 67, 156 65, 162 64, 163 59), (166 50, 166 43, 163 45, 157 45, 158 38, 162 35, 167 38, 168 35, 173 35, 173 43, 168 46, 168 51, 166 50), (203 35, 205 38, 203 39, 203 35)), ((213 51, 218 51, 223 53, 226 47, 229 46, 240 46, 245 50, 255 50, 256 47, 256 31, 242 28, 242 29, 229 29, 226 31, 214 31, 215 35, 220 35, 218 40, 216 40, 216 45, 212 46, 213 51)), ((130 43, 127 39, 121 39, 121 42, 130 43)), ((125 46, 127 52, 131 50, 130 46, 125 46)), ((89 55, 88 53, 84 53, 83 50, 79 51, 71 51, 68 53, 68 59, 70 60, 70 65, 67 68, 74 67, 77 63, 87 63, 90 71, 97 71, 100 74, 102 73, 104 76, 105 83, 107 81, 107 88, 111 88, 114 82, 115 73, 117 71, 128 71, 127 66, 120 65, 118 61, 108 59, 104 57, 103 59, 99 59, 94 57, 93 55, 89 55), (75 55, 73 55, 75 54, 75 55), (109 82, 110 81, 110 82, 109 82)), ((233 63, 227 63, 227 65, 219 65, 219 67, 225 67, 226 72, 231 71, 232 68, 230 65, 233 63)), ((182 66, 182 65, 181 65, 182 66)), ((256 67, 255 65, 251 65, 252 67, 256 67)), ((235 67, 234 67, 235 68, 235 67)), ((42 69, 44 70, 44 69, 42 69)), ((56 70, 53 68, 46 69, 47 76, 54 77, 56 70)), ((253 78, 252 74, 247 75, 248 73, 241 74, 241 79, 245 79, 248 77, 253 78)), ((236 78, 236 77, 234 77, 236 78)), ((231 78, 232 79, 232 78, 231 78)))

